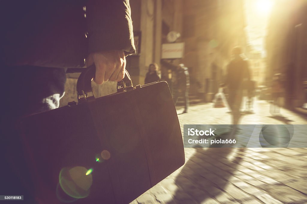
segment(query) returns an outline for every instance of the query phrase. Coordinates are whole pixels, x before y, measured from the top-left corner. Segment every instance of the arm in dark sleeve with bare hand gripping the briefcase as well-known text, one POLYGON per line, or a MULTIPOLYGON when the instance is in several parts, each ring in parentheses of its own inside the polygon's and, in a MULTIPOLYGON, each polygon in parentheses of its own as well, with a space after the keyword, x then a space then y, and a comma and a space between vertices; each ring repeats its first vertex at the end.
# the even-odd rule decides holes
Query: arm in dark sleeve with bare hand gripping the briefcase
POLYGON ((126 55, 135 53, 128 0, 89 0, 87 3, 88 57, 95 64, 95 82, 120 81, 126 55))

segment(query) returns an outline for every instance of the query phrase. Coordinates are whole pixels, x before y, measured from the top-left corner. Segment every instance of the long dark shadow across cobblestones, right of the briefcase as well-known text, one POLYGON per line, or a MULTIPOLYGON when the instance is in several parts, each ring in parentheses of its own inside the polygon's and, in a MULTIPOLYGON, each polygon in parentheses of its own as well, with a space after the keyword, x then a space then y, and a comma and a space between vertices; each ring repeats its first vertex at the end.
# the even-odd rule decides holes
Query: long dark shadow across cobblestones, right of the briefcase
POLYGON ((235 153, 237 151, 244 152, 244 148, 196 148, 196 153, 176 177, 175 202, 202 203, 223 194, 223 189, 242 161, 242 156, 235 153), (231 160, 227 159, 230 154, 234 154, 231 160))

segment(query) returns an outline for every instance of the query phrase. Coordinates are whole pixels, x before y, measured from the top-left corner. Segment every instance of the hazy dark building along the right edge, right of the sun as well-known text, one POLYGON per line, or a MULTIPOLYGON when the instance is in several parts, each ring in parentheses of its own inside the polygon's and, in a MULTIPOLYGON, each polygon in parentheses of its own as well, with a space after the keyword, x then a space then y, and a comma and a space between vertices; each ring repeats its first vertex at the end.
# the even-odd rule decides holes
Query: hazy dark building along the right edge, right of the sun
POLYGON ((278 1, 275 5, 266 38, 266 84, 270 87, 274 74, 282 74, 283 105, 303 106, 307 101, 307 2, 278 1))

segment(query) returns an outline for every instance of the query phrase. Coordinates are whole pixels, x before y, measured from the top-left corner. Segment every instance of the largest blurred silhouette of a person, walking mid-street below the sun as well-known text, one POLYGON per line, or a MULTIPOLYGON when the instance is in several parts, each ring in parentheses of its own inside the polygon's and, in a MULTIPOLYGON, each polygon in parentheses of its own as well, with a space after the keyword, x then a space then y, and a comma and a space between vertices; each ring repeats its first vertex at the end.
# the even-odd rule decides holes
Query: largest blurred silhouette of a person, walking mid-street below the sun
POLYGON ((228 104, 231 109, 232 123, 239 123, 240 107, 243 99, 243 82, 250 80, 248 61, 242 55, 241 47, 232 50, 233 59, 227 66, 225 84, 228 87, 228 104))

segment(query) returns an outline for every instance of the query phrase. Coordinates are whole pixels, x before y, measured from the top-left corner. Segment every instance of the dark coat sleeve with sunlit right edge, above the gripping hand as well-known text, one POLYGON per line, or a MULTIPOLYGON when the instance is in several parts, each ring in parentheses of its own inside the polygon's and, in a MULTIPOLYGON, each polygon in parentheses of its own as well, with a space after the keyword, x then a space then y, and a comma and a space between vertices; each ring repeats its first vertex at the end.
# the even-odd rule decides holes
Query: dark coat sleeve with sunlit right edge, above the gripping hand
POLYGON ((129 0, 89 0, 86 6, 88 53, 135 53, 129 0))

